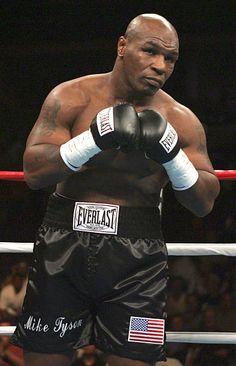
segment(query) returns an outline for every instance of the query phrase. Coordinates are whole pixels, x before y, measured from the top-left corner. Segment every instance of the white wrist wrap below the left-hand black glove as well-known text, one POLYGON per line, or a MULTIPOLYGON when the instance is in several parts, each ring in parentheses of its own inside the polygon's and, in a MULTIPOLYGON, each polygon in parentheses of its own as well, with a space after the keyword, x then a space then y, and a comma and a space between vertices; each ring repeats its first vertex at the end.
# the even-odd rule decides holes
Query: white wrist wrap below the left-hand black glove
POLYGON ((74 171, 79 170, 86 161, 100 151, 90 130, 81 133, 60 147, 64 163, 74 171))

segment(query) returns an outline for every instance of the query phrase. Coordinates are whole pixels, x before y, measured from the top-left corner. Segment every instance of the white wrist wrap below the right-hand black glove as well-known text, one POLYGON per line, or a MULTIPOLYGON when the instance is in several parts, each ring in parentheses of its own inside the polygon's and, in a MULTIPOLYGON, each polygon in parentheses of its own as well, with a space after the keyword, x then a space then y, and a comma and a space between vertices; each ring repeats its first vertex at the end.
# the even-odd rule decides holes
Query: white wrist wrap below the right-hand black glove
POLYGON ((173 189, 176 191, 188 189, 198 180, 197 170, 182 149, 174 159, 162 165, 169 175, 173 189))

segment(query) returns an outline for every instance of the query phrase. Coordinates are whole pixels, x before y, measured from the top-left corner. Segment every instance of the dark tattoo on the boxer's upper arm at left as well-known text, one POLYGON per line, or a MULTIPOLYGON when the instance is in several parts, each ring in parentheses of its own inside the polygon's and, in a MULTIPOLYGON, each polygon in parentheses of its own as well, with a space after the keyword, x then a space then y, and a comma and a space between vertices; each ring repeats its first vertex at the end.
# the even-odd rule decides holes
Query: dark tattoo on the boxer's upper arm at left
POLYGON ((56 118, 57 114, 61 108, 59 100, 55 100, 53 105, 46 104, 42 110, 42 121, 41 121, 41 131, 46 136, 51 136, 56 130, 56 118))

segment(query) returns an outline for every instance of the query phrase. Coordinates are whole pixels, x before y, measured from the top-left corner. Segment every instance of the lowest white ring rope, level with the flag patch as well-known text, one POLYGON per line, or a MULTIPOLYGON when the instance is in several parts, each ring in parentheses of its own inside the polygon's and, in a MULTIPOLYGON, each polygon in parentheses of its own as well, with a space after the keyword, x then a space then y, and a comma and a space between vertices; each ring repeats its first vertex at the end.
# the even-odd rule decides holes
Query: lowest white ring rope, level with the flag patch
MULTIPOLYGON (((0 336, 11 336, 15 326, 1 326, 0 336)), ((236 333, 225 332, 166 332, 167 342, 236 344, 236 333)))

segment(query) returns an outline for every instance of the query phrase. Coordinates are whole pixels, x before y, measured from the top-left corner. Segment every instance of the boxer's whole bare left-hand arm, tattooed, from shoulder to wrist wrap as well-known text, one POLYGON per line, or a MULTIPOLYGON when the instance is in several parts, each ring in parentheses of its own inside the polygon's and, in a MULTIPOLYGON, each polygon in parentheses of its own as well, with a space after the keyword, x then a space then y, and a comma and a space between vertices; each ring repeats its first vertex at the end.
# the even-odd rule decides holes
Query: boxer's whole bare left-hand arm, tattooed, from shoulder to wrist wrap
POLYGON ((56 184, 72 174, 64 164, 59 148, 71 138, 70 124, 74 118, 74 111, 65 109, 61 97, 52 91, 42 106, 24 152, 24 174, 30 188, 56 184))

